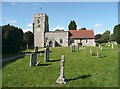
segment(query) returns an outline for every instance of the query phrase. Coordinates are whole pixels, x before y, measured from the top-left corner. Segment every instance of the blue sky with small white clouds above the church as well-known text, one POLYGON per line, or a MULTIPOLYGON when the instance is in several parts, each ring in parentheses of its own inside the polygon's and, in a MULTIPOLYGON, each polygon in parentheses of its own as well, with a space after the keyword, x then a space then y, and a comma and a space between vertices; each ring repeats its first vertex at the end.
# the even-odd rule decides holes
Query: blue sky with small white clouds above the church
POLYGON ((112 32, 118 23, 117 2, 3 2, 2 25, 10 23, 25 31, 32 30, 33 14, 46 13, 49 29, 68 30, 75 20, 78 29, 93 29, 95 34, 112 32), (42 10, 41 10, 42 8, 42 10))

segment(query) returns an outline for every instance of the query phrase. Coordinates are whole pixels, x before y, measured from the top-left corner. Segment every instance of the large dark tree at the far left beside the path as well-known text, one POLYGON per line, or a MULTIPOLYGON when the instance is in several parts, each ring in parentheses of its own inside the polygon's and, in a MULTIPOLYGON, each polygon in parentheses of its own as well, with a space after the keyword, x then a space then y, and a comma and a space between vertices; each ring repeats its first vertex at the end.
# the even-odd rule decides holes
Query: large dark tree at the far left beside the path
POLYGON ((19 52, 23 42, 23 31, 20 28, 5 25, 2 26, 2 52, 19 52))

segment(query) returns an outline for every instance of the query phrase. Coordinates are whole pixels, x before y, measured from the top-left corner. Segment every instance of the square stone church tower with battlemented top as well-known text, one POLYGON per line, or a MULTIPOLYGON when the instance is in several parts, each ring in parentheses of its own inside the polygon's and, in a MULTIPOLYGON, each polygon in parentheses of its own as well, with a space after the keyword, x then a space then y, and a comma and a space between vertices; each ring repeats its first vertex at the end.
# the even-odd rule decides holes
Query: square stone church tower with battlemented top
POLYGON ((45 32, 49 31, 48 16, 34 14, 33 21, 34 47, 45 47, 45 32))

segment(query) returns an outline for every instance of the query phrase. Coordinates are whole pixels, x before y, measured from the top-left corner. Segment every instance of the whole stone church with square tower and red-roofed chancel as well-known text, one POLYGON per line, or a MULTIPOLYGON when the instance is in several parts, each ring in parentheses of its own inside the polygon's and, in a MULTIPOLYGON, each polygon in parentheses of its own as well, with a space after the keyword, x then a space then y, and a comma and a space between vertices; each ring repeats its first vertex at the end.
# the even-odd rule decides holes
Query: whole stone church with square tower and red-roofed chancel
POLYGON ((49 31, 47 14, 33 15, 34 46, 95 46, 93 30, 49 31))

